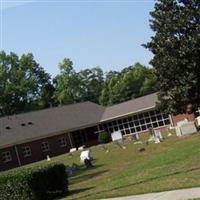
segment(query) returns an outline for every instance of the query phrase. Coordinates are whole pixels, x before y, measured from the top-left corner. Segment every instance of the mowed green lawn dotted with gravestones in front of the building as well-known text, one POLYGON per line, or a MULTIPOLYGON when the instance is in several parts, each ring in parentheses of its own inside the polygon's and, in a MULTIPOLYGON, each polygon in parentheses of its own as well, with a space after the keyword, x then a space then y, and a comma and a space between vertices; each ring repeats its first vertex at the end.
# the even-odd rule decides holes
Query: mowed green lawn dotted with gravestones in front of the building
POLYGON ((69 193, 62 200, 94 200, 200 186, 199 134, 173 135, 160 144, 149 145, 127 139, 125 145, 126 149, 121 149, 108 144, 109 153, 100 146, 92 147, 95 167, 91 169, 80 165, 80 152, 53 158, 51 162, 80 165, 70 176, 69 193), (139 152, 142 147, 145 151, 139 152))

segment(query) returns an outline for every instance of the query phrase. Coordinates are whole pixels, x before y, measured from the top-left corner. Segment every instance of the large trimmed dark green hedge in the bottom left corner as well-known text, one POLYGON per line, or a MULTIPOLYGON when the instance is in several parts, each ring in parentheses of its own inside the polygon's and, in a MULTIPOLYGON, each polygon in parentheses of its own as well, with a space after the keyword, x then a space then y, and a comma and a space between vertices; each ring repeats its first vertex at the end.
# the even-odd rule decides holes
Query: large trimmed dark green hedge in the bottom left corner
POLYGON ((68 190, 63 164, 20 168, 0 175, 0 200, 47 200, 68 190))

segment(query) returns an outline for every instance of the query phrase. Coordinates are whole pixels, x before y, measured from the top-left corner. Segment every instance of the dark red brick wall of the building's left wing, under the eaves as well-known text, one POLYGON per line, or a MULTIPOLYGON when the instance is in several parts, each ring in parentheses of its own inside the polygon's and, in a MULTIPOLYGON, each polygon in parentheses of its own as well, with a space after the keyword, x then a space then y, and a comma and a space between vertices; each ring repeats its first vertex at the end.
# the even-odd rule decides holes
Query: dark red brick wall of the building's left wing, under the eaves
POLYGON ((75 132, 72 132, 72 133, 65 133, 56 136, 46 137, 43 139, 34 140, 16 146, 0 149, 0 171, 44 160, 47 158, 47 155, 53 157, 56 155, 64 154, 69 152, 69 150, 74 147, 78 148, 79 146, 82 145, 92 146, 94 144, 97 144, 98 143, 97 134, 94 133, 96 130, 97 127, 95 126, 77 131, 78 135, 80 135, 79 139, 81 140, 80 143, 77 145, 76 145, 77 141, 75 141, 76 134, 75 132), (60 146, 59 139, 61 138, 65 139, 66 146, 63 147, 60 146), (49 150, 45 152, 42 149, 42 143, 44 142, 47 142, 49 146, 49 150), (25 147, 30 148, 31 150, 30 156, 24 155, 23 148, 25 147), (2 153, 8 151, 10 152, 12 159, 8 162, 4 162, 2 153))

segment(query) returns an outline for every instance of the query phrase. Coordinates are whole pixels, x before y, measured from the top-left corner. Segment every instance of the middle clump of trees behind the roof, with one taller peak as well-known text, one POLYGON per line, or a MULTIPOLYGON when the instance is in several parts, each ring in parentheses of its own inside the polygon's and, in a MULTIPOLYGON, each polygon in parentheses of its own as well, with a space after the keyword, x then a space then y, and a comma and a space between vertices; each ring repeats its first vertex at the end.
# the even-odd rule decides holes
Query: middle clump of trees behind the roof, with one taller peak
POLYGON ((76 72, 71 60, 65 58, 60 66, 60 74, 55 77, 54 98, 59 104, 82 101, 98 103, 103 84, 103 72, 92 68, 76 72))

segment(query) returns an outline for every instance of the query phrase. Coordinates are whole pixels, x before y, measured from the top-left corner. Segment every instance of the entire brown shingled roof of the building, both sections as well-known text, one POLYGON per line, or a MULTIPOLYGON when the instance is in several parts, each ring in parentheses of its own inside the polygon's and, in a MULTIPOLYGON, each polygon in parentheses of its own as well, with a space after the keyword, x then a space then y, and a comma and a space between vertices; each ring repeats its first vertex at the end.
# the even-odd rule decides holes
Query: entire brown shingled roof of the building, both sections
POLYGON ((84 102, 2 117, 0 148, 90 127, 148 110, 154 108, 156 102, 157 94, 154 93, 107 108, 92 102, 84 102))

